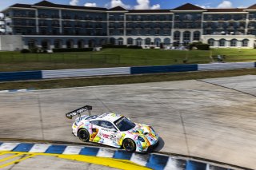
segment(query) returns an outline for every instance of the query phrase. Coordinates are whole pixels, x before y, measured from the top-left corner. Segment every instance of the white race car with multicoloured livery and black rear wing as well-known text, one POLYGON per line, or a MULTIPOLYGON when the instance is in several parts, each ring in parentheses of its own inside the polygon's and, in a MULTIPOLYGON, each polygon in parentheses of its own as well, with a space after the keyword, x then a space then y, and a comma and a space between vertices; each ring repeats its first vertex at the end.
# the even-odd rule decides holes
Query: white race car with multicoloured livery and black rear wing
POLYGON ((115 148, 124 148, 127 152, 150 152, 158 144, 158 134, 145 124, 137 124, 117 113, 91 115, 92 106, 86 105, 66 117, 78 115, 72 125, 72 133, 83 142, 106 144, 115 148), (88 111, 89 115, 81 115, 88 111))

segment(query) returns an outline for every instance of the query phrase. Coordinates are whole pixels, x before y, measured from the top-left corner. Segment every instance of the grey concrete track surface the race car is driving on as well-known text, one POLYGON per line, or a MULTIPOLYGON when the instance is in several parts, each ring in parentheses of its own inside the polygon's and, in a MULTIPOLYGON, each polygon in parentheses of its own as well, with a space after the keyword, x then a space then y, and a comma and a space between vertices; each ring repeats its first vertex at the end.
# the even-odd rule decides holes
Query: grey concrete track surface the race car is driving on
POLYGON ((256 76, 0 93, 0 137, 80 142, 65 113, 92 105, 152 125, 157 151, 256 169, 256 76))

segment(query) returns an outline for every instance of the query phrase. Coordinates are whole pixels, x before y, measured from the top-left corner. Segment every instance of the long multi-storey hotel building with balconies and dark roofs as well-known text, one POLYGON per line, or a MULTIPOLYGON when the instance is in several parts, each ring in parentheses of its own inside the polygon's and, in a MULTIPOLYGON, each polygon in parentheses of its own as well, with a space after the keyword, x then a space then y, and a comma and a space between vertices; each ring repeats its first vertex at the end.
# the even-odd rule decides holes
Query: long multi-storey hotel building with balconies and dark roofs
POLYGON ((256 4, 239 9, 203 9, 187 3, 167 10, 126 10, 42 1, 14 4, 2 13, 5 35, 0 36, 0 50, 199 41, 212 48, 254 48, 256 39, 256 4))

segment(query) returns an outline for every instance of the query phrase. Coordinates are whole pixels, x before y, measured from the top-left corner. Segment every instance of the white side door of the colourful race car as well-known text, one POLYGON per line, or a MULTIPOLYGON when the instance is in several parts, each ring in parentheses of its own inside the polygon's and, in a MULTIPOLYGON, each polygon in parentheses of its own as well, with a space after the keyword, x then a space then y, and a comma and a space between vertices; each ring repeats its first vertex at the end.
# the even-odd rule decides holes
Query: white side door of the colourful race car
POLYGON ((99 121, 99 125, 102 127, 99 132, 99 136, 104 139, 103 144, 107 144, 114 147, 119 147, 117 138, 118 138, 118 129, 110 121, 99 121))

